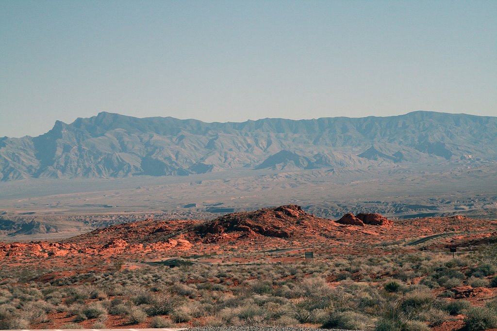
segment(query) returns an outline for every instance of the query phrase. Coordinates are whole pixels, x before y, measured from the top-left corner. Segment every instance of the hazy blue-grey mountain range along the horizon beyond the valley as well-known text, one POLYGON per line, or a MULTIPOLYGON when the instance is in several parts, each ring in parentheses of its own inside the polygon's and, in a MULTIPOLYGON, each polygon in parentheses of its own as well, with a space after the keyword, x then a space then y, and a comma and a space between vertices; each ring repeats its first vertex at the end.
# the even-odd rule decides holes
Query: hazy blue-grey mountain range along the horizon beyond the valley
POLYGON ((495 162, 495 146, 497 117, 465 114, 204 123, 102 112, 37 137, 0 138, 0 180, 495 162))

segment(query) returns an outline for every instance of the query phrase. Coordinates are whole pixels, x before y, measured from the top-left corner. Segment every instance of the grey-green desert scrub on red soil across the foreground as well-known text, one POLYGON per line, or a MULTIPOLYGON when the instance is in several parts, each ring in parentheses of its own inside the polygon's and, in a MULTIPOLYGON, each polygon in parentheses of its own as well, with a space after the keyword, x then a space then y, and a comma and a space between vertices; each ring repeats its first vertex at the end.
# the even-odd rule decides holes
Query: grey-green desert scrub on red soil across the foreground
MULTIPOLYGON (((292 263, 271 263, 282 253, 270 252, 260 264, 223 265, 255 260, 257 251, 265 249, 261 246, 230 249, 220 265, 121 270, 95 262, 84 272, 47 279, 40 276, 61 270, 54 266, 36 274, 18 267, 1 269, 0 328, 103 329, 119 321, 120 326, 136 328, 425 331, 459 319, 467 331, 484 330, 496 326, 497 300, 484 289, 496 286, 488 253, 494 246, 460 250, 453 259, 438 250, 383 254, 392 247, 379 241, 361 247, 365 252, 377 250, 374 255, 320 253, 320 259, 306 263, 296 259, 301 253, 288 251, 283 256, 294 259, 292 263), (472 293, 457 292, 475 287, 487 293, 483 301, 479 297, 479 306, 472 293), (61 326, 61 319, 66 325, 61 326)), ((316 251, 326 249, 321 244, 316 251)))

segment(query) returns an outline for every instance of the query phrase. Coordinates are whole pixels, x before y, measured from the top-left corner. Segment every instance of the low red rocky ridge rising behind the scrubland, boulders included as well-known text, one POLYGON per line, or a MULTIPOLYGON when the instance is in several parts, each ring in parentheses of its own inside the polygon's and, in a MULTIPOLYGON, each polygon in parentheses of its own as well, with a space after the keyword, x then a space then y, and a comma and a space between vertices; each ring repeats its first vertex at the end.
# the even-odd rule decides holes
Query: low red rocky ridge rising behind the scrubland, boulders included
MULTIPOLYGON (((347 214, 342 219, 349 219, 347 214)), ((361 225, 392 225, 380 214, 352 215, 361 225)), ((0 257, 51 257, 72 255, 143 255, 158 251, 187 251, 194 245, 253 240, 334 236, 338 222, 316 217, 296 204, 231 213, 211 221, 153 220, 112 225, 61 242, 36 241, 0 244, 0 257)))

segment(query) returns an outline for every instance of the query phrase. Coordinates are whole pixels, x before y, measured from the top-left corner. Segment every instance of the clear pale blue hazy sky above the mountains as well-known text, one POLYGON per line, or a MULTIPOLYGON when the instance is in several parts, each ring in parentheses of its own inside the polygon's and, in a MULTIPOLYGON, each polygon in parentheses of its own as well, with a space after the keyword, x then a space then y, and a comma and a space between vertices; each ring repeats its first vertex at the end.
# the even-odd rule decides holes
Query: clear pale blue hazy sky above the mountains
POLYGON ((496 17, 496 0, 2 0, 0 136, 100 111, 496 116, 496 17))

